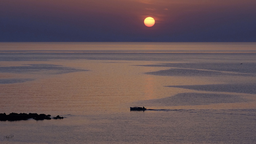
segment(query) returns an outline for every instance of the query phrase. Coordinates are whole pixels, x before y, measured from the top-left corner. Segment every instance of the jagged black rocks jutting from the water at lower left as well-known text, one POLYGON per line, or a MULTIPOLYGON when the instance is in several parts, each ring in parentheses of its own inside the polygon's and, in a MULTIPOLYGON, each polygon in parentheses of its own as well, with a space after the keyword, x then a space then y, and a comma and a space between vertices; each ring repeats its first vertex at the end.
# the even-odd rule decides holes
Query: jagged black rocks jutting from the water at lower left
POLYGON ((45 115, 45 114, 37 114, 37 113, 10 113, 9 115, 6 115, 5 113, 0 114, 0 121, 20 121, 20 120, 28 120, 28 119, 35 119, 35 120, 44 120, 44 119, 63 119, 63 117, 60 117, 59 115, 56 117, 51 118, 51 115, 45 115))

